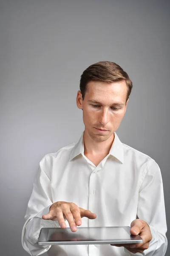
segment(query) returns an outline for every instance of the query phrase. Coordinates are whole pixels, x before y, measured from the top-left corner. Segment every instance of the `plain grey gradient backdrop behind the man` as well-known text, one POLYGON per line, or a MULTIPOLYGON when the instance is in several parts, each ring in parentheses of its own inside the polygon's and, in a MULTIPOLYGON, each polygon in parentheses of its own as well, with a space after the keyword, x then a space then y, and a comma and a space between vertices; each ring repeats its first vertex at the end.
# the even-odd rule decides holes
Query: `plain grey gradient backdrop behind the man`
POLYGON ((79 139, 79 78, 101 60, 133 81, 117 134, 159 164, 170 227, 169 11, 168 0, 0 1, 2 256, 27 255, 21 230, 39 162, 79 139))

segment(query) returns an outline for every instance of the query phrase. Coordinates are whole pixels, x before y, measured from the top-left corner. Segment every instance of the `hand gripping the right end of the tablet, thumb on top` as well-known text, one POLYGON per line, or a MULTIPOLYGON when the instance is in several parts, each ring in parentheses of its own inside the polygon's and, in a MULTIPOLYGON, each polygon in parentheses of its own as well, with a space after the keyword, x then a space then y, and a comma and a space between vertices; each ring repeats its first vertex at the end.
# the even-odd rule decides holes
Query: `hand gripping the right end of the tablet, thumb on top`
POLYGON ((146 221, 136 219, 132 221, 130 225, 130 234, 139 235, 143 239, 143 243, 140 244, 111 244, 113 246, 124 246, 131 253, 143 253, 149 247, 149 242, 152 239, 150 227, 146 221))

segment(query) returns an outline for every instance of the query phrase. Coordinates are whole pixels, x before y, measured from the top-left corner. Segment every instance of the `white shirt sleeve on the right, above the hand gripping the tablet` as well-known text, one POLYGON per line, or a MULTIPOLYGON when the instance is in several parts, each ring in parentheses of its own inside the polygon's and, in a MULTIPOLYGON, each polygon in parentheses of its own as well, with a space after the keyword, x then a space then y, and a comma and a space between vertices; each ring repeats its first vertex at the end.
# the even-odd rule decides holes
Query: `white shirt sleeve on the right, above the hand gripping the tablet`
POLYGON ((149 224, 152 240, 149 248, 143 253, 133 254, 125 249, 130 256, 164 256, 167 250, 167 224, 161 171, 153 159, 150 161, 150 167, 145 169, 139 189, 137 216, 149 224))

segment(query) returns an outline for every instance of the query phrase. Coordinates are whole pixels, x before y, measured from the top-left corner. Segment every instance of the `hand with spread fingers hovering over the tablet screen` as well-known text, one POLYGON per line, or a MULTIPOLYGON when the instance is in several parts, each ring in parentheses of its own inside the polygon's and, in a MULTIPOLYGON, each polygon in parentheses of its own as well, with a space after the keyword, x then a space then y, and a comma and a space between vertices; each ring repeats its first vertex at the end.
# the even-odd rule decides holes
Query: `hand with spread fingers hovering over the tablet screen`
POLYGON ((74 203, 59 201, 51 205, 49 212, 42 215, 44 220, 58 221, 61 228, 66 228, 65 219, 68 221, 71 231, 75 232, 77 226, 82 224, 82 218, 95 219, 96 214, 78 207, 74 203))

